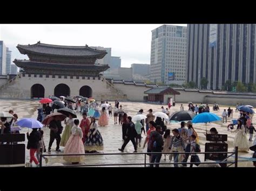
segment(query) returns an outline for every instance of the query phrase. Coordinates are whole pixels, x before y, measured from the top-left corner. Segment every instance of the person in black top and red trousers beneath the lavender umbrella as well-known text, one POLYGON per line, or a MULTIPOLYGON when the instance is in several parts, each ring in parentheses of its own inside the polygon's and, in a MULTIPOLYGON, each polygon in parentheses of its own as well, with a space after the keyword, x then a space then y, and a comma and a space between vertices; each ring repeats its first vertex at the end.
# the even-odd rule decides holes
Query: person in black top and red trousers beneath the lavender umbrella
POLYGON ((26 133, 26 137, 28 138, 28 145, 26 148, 29 149, 30 154, 30 166, 32 166, 32 162, 35 162, 37 167, 39 166, 39 162, 35 157, 35 153, 38 149, 39 140, 40 140, 40 133, 37 131, 37 128, 32 129, 32 132, 29 134, 29 132, 26 133))

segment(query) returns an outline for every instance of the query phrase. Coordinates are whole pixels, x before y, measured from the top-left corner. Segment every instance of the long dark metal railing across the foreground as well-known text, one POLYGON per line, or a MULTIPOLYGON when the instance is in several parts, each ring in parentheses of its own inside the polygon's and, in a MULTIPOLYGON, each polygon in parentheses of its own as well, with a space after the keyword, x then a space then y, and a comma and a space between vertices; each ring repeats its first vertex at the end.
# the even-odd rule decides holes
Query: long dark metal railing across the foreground
MULTIPOLYGON (((40 159, 39 159, 39 167, 43 167, 42 166, 42 159, 43 157, 53 157, 53 156, 81 156, 81 155, 144 155, 144 162, 143 163, 116 163, 116 164, 84 164, 84 165, 62 165, 62 166, 55 166, 55 167, 92 167, 92 166, 127 166, 127 165, 144 165, 144 167, 146 167, 146 165, 179 165, 179 164, 230 164, 227 167, 230 167, 231 165, 234 165, 234 167, 238 167, 238 147, 235 147, 235 151, 234 152, 174 152, 175 154, 231 154, 228 155, 225 159, 221 160, 221 161, 216 161, 216 162, 146 162, 146 155, 147 154, 171 154, 170 152, 142 152, 142 153, 85 153, 85 154, 43 154, 42 153, 43 148, 40 149, 40 159), (227 161, 228 158, 230 158, 232 155, 235 155, 234 160, 233 161, 227 161)), ((174 154, 172 153, 172 154, 174 154)), ((44 166, 44 167, 51 167, 51 166, 44 166)))

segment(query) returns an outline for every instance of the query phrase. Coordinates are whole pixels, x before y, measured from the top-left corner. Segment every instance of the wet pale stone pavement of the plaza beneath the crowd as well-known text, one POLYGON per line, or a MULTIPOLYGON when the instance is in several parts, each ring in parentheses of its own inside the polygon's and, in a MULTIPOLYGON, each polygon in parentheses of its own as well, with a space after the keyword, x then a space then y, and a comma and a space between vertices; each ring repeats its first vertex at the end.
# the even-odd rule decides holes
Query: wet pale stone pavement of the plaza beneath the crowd
MULTIPOLYGON (((114 105, 114 102, 109 102, 111 105, 114 105)), ((143 109, 144 110, 144 115, 147 114, 148 109, 153 109, 153 112, 161 111, 161 106, 159 104, 147 104, 147 103, 139 103, 139 102, 120 102, 120 105, 123 105, 123 109, 125 112, 127 112, 128 116, 134 116, 137 114, 138 110, 143 109)), ((184 109, 187 110, 187 103, 183 103, 184 109)), ((210 106, 210 111, 212 112, 212 106, 210 106)), ((37 108, 39 107, 39 102, 38 100, 29 100, 29 101, 24 101, 24 100, 0 100, 0 111, 9 111, 10 109, 14 110, 15 113, 18 115, 19 118, 23 117, 32 117, 32 118, 37 118, 37 108)), ((167 105, 164 105, 166 108, 167 105)), ((172 114, 175 111, 179 111, 180 104, 176 104, 175 107, 171 107, 170 113, 172 114)), ((228 105, 226 106, 221 106, 220 105, 220 110, 213 111, 215 114, 218 116, 221 116, 221 113, 223 112, 224 109, 227 109, 228 105)), ((231 107, 235 111, 235 107, 231 107)), ((233 113, 233 119, 237 119, 239 117, 239 113, 233 113)), ((78 114, 78 119, 79 121, 82 119, 82 115, 78 114)), ((255 123, 255 117, 252 120, 253 124, 255 123)), ((211 123, 207 124, 207 130, 210 130, 212 127, 215 127, 217 131, 220 134, 227 134, 228 135, 228 151, 232 152, 233 151, 233 139, 235 136, 235 133, 231 133, 230 131, 227 131, 227 125, 232 123, 231 118, 228 118, 227 123, 222 123, 222 122, 217 122, 217 123, 211 123)), ((65 126, 65 125, 63 125, 65 126)), ((168 129, 174 129, 174 128, 179 128, 180 123, 171 123, 167 124, 168 129)), ((205 138, 205 124, 193 124, 194 129, 197 131, 198 136, 199 136, 199 144, 201 146, 201 152, 204 152, 205 149, 205 143, 206 143, 206 138, 205 138)), ((43 128, 44 131, 44 142, 46 149, 48 148, 49 144, 49 139, 50 139, 50 130, 49 128, 43 128)), ((102 134, 103 141, 104 141, 104 150, 102 153, 120 153, 118 151, 118 148, 120 148, 123 144, 122 141, 122 126, 121 125, 114 125, 114 119, 113 117, 110 117, 109 125, 105 127, 99 127, 99 131, 102 134)), ((23 128, 21 133, 26 133, 28 132, 27 128, 23 128)), ((31 132, 31 130, 29 130, 31 132)), ((145 135, 143 133, 142 135, 142 146, 145 140, 145 135)), ((249 135, 247 133, 247 138, 249 139, 249 135)), ((25 144, 27 143, 24 142, 25 144)), ((253 142, 249 142, 250 145, 252 145, 253 142)), ((64 147, 60 147, 60 150, 62 152, 55 152, 56 148, 56 142, 53 143, 52 145, 52 152, 51 154, 60 154, 63 153, 64 147)), ((132 153, 134 151, 133 145, 130 142, 127 144, 125 147, 124 152, 125 153, 132 153)), ((138 152, 146 152, 146 148, 143 149, 142 147, 138 147, 138 152)), ((48 152, 44 154, 50 154, 48 152)), ((253 152, 239 152, 239 157, 247 157, 251 158, 253 152)), ((52 156, 48 157, 49 162, 48 164, 45 164, 45 161, 43 160, 43 166, 51 166, 56 163, 68 165, 60 156, 52 156)), ((204 161, 204 154, 199 154, 199 158, 201 161, 204 161)), ((163 160, 164 156, 162 156, 160 162, 170 162, 168 160, 163 160)), ((137 155, 91 155, 91 156, 86 156, 84 159, 84 164, 128 164, 128 163, 136 163, 136 164, 144 164, 144 154, 137 154, 137 155)), ((231 158, 230 160, 234 160, 234 158, 231 158)), ((239 159, 240 160, 240 159, 239 159)), ((244 160, 244 159, 242 159, 244 160)), ((26 162, 29 161, 29 150, 26 150, 26 162)), ((146 156, 146 161, 149 162, 148 156, 146 156)), ((188 159, 190 161, 190 158, 188 159)), ((173 160, 172 160, 173 162, 173 160)), ((120 166, 120 165, 117 165, 120 166)), ((129 165, 129 167, 136 166, 136 167, 142 167, 144 165, 129 165)), ((160 165, 160 167, 171 167, 173 165, 160 165)), ((240 161, 238 163, 239 167, 252 167, 252 161, 240 161)))

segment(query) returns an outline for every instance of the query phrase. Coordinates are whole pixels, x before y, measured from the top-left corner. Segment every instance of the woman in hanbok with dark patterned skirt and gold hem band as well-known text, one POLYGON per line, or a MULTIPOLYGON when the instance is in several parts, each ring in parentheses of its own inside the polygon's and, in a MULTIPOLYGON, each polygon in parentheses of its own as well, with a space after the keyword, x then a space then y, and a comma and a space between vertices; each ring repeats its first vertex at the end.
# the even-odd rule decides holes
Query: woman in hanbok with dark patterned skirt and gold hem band
POLYGON ((98 124, 95 121, 95 117, 91 117, 90 130, 84 143, 84 150, 95 153, 97 151, 102 151, 103 148, 103 139, 98 131, 98 124))

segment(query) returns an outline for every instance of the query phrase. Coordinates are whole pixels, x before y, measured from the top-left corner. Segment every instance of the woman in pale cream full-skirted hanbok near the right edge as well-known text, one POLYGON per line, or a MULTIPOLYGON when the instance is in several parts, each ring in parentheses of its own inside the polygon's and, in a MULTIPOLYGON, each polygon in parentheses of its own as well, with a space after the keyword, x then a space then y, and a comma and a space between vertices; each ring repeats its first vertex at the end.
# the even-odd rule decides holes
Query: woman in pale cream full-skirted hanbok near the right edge
POLYGON ((234 147, 238 146, 238 151, 249 151, 249 143, 246 137, 245 126, 242 121, 238 119, 237 129, 233 132, 237 132, 234 137, 234 147))

